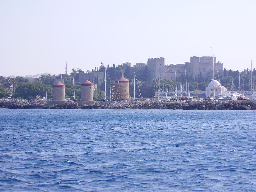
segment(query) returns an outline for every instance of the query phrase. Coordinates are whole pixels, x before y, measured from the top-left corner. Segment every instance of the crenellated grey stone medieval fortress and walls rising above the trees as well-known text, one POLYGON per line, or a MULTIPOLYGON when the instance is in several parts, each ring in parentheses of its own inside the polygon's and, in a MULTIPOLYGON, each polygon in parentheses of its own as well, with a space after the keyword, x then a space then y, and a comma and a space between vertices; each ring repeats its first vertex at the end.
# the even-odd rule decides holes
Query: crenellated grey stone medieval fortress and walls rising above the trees
MULTIPOLYGON (((185 64, 169 64, 165 65, 164 58, 151 58, 148 59, 147 63, 136 63, 133 67, 131 67, 131 63, 125 62, 123 63, 123 67, 132 68, 135 73, 138 69, 148 66, 148 76, 150 82, 156 79, 175 79, 176 77, 184 76, 185 77, 185 69, 187 73, 187 77, 195 78, 198 75, 202 75, 202 77, 212 77, 213 76, 213 57, 197 57, 193 56, 190 58, 190 62, 185 62, 185 64)), ((103 65, 100 66, 102 68, 103 65)), ((223 72, 223 63, 220 61, 216 62, 216 57, 214 57, 214 71, 218 71, 219 73, 223 72)), ((92 72, 92 73, 79 73, 78 74, 79 82, 85 81, 88 79, 93 84, 100 85, 104 81, 104 73, 103 72, 92 72)))

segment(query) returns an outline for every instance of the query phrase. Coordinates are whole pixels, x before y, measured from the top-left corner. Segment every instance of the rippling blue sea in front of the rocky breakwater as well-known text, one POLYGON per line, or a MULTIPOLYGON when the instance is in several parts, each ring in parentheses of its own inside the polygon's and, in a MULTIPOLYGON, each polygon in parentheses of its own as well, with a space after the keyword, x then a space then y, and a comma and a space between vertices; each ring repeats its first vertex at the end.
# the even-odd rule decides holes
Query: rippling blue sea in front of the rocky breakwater
POLYGON ((256 111, 0 109, 0 191, 256 191, 256 111))

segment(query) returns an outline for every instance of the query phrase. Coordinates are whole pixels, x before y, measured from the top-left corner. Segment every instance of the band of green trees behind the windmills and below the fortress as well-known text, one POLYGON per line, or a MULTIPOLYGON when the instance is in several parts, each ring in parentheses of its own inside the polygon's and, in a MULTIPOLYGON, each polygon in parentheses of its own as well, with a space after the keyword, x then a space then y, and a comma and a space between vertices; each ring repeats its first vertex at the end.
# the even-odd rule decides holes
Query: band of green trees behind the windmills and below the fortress
MULTIPOLYGON (((113 64, 112 67, 109 65, 106 68, 106 75, 107 75, 107 83, 106 83, 106 92, 107 97, 110 96, 110 85, 109 85, 109 77, 111 78, 111 82, 113 83, 116 79, 120 76, 124 75, 130 81, 130 95, 134 97, 134 80, 133 80, 133 70, 135 70, 137 82, 135 82, 135 97, 140 97, 140 94, 144 98, 150 98, 154 95, 154 91, 158 90, 158 82, 157 80, 153 81, 153 83, 149 82, 149 75, 148 75, 148 67, 142 68, 131 68, 129 66, 118 65, 115 66, 113 64), (109 76, 109 77, 108 77, 109 76), (140 91, 139 91, 139 88, 140 91)), ((105 68, 95 68, 92 71, 87 70, 86 72, 105 72, 105 68)), ((66 98, 74 98, 74 89, 73 89, 73 77, 75 81, 75 98, 80 99, 81 97, 81 82, 78 82, 78 74, 84 73, 81 68, 72 69, 70 75, 67 74, 60 74, 56 75, 42 75, 40 78, 36 78, 35 82, 29 83, 27 78, 17 76, 15 78, 5 78, 0 76, 0 98, 7 98, 10 94, 14 98, 22 98, 22 99, 33 99, 36 96, 46 97, 46 89, 47 89, 47 98, 52 97, 51 89, 54 79, 61 79, 65 84, 65 97, 66 98), (12 88, 15 88, 15 92, 12 92, 12 88), (8 88, 8 91, 4 91, 8 88), (28 91, 26 91, 28 90, 28 91)), ((239 72, 238 70, 232 71, 231 69, 226 70, 224 68, 223 72, 215 73, 215 79, 220 81, 221 85, 225 86, 230 91, 237 91, 239 90, 239 73, 240 73, 240 90, 251 90, 251 70, 245 70, 239 72)), ((208 86, 212 79, 210 78, 212 74, 207 75, 208 77, 198 75, 197 77, 187 76, 187 90, 188 91, 196 91, 201 90, 204 91, 205 87, 208 86)), ((253 75, 253 87, 255 88, 254 81, 256 81, 256 71, 255 68, 252 71, 253 75)), ((177 83, 177 90, 180 90, 182 87, 182 91, 186 91, 186 77, 185 75, 181 75, 177 77, 177 82, 175 80, 169 79, 169 91, 176 90, 177 83)), ((105 98, 105 83, 101 84, 102 90, 94 89, 94 99, 100 100, 101 98, 105 98)), ((159 89, 161 91, 167 91, 168 82, 167 79, 160 80, 159 89)))

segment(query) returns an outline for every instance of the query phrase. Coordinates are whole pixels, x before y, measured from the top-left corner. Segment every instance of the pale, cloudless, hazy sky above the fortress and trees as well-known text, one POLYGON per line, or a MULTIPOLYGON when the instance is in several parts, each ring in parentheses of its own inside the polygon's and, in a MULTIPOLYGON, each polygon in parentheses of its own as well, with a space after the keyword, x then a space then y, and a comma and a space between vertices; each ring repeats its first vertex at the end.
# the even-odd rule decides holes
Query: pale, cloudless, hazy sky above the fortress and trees
POLYGON ((0 76, 214 56, 256 68, 254 0, 0 0, 0 76), (212 47, 212 49, 211 49, 212 47))

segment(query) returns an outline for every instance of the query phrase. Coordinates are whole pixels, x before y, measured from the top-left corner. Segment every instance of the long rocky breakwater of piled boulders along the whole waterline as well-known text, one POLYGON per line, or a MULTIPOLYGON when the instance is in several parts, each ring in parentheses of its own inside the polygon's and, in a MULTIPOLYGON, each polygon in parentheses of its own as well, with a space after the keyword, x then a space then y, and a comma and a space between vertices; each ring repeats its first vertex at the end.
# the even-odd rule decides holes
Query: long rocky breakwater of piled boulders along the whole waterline
POLYGON ((91 105, 78 106, 77 102, 68 101, 57 105, 47 105, 45 100, 32 102, 20 100, 0 100, 0 108, 82 108, 82 109, 188 109, 188 110, 256 110, 254 100, 228 100, 228 101, 153 101, 129 99, 121 101, 95 101, 91 105))

